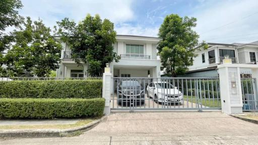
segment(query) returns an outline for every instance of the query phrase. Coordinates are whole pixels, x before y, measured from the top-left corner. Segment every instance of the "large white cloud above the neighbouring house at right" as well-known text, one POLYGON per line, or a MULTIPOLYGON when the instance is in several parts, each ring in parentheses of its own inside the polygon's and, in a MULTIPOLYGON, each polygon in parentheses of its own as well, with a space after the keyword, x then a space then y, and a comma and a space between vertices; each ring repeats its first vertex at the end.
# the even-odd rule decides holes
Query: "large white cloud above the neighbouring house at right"
POLYGON ((213 4, 203 2, 196 8, 196 13, 192 14, 198 19, 195 30, 200 34, 200 40, 207 42, 232 43, 258 40, 257 8, 256 0, 221 1, 219 3, 216 1, 213 4), (229 25, 224 26, 225 24, 229 25), (223 27, 218 28, 220 26, 223 27), (245 35, 255 32, 257 33, 253 35, 245 35))

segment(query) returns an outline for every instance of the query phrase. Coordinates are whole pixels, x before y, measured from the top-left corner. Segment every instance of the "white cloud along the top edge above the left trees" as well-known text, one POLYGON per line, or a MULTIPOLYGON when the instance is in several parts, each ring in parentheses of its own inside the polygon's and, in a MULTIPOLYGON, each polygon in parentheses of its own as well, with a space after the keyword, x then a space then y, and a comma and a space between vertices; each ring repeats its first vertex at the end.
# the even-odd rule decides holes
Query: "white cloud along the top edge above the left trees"
POLYGON ((134 12, 131 8, 133 0, 23 0, 22 3, 24 5, 20 11, 22 16, 30 16, 33 20, 40 17, 50 27, 64 17, 78 22, 85 18, 87 14, 99 14, 102 19, 107 18, 113 23, 122 23, 134 19, 134 12))

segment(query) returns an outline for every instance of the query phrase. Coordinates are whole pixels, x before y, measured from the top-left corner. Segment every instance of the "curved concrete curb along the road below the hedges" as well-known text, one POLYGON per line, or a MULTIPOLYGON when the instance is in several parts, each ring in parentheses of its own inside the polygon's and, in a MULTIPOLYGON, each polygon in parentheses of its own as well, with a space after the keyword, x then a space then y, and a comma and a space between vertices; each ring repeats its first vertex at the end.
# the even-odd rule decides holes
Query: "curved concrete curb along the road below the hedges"
POLYGON ((106 119, 104 115, 87 125, 69 128, 69 129, 1 129, 0 137, 61 137, 76 134, 78 131, 87 131, 95 127, 102 120, 106 119))

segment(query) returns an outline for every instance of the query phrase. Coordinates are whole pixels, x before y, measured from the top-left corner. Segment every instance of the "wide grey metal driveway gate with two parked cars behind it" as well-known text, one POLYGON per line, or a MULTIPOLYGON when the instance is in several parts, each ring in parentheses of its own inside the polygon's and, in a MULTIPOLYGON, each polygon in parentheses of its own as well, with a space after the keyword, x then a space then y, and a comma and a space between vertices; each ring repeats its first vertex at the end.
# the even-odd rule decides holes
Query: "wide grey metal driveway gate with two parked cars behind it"
POLYGON ((112 78, 112 110, 219 110, 218 78, 112 78))

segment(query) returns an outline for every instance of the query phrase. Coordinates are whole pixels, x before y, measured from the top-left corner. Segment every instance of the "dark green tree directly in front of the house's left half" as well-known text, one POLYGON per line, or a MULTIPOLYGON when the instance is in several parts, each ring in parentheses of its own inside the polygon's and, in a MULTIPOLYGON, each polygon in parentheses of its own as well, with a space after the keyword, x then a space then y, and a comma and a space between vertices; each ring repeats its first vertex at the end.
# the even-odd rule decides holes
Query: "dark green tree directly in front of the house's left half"
POLYGON ((61 40, 67 42, 73 52, 78 52, 78 56, 73 55, 73 59, 81 65, 83 62, 89 63, 88 72, 92 77, 99 77, 104 71, 106 63, 113 60, 118 62, 119 56, 113 52, 112 43, 116 41, 114 24, 107 19, 103 21, 99 15, 86 18, 76 24, 68 18, 57 22, 56 34, 61 36, 61 40))

